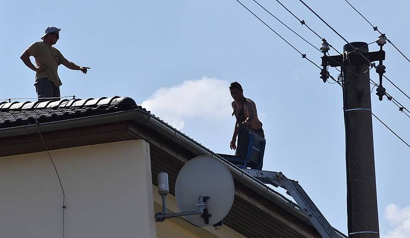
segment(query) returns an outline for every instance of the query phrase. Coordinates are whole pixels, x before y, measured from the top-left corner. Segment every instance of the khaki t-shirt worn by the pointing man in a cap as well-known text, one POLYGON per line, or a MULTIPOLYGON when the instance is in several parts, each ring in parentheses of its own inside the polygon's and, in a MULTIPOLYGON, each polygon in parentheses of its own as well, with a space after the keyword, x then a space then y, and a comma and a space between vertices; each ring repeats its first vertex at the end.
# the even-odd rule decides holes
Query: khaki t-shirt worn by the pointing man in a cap
POLYGON ((46 70, 43 72, 35 73, 36 82, 38 79, 48 78, 56 86, 60 86, 62 84, 57 74, 57 67, 66 58, 64 58, 60 51, 55 49, 53 46, 47 45, 43 41, 32 43, 26 51, 30 56, 34 56, 35 64, 37 66, 46 66, 46 70))

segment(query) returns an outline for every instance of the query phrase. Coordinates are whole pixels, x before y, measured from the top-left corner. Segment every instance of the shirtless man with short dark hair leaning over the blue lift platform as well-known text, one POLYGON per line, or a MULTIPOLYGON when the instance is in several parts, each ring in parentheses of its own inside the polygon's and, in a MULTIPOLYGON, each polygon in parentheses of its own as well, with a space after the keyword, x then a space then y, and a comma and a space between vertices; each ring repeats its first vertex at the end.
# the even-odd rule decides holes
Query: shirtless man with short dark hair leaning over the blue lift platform
POLYGON ((229 91, 234 99, 232 102, 232 109, 235 115, 235 130, 231 140, 231 149, 236 150, 236 137, 238 136, 239 125, 249 128, 259 136, 265 137, 262 129, 262 123, 258 119, 258 113, 256 111, 256 105, 251 99, 247 99, 243 96, 242 86, 238 82, 231 83, 229 91))

